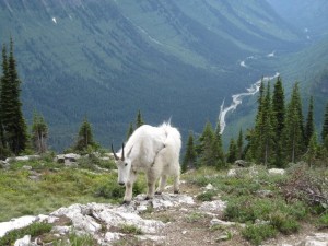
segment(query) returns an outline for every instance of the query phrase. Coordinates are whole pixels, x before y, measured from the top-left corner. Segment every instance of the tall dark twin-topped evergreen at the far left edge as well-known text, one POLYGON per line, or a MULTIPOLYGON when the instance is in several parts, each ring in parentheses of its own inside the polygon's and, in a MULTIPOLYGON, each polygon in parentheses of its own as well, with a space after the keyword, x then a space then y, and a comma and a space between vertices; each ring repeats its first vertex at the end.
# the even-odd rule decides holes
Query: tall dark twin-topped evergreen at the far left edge
POLYGON ((16 71, 16 61, 13 56, 13 40, 10 39, 10 52, 7 56, 5 46, 2 48, 1 78, 1 115, 4 145, 14 154, 25 150, 28 136, 20 101, 21 81, 16 71))

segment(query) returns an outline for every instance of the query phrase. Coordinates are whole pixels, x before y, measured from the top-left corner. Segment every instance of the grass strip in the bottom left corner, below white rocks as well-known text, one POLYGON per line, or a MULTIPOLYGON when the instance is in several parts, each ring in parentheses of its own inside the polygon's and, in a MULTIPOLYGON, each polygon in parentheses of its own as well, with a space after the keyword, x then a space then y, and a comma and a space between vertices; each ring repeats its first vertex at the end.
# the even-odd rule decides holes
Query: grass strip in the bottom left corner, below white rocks
POLYGON ((51 229, 51 224, 33 223, 26 227, 8 232, 3 237, 0 238, 0 245, 12 245, 16 239, 20 239, 25 235, 31 235, 32 237, 39 236, 42 234, 50 232, 51 229))

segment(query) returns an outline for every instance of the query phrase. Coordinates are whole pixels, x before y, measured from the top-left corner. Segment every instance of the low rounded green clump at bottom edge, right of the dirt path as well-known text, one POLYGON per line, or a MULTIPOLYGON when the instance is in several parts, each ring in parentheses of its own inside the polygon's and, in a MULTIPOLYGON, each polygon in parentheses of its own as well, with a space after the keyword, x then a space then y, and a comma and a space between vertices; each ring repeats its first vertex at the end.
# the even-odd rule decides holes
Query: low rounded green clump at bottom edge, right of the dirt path
POLYGON ((270 224, 248 224, 242 231, 243 237, 254 245, 260 245, 262 241, 274 237, 278 231, 270 224))

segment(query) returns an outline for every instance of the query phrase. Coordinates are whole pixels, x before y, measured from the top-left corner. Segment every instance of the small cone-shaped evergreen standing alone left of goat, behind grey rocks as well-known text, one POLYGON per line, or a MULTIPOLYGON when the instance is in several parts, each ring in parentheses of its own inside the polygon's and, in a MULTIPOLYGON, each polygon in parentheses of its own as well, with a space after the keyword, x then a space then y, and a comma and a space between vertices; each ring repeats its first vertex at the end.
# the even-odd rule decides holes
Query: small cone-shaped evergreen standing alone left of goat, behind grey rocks
POLYGON ((90 148, 93 150, 98 149, 98 144, 93 140, 92 127, 85 117, 79 129, 78 141, 73 149, 75 151, 87 151, 90 148))

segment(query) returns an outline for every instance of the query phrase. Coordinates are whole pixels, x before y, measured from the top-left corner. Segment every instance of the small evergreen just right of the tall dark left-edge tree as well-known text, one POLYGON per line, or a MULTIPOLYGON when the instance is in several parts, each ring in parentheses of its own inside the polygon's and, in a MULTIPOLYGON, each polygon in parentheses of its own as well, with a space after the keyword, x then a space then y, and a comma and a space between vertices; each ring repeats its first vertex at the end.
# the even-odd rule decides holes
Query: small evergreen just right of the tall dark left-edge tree
POLYGON ((34 150, 37 153, 47 151, 48 126, 43 116, 34 113, 32 125, 32 140, 34 150))

